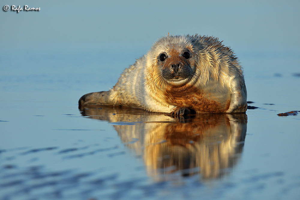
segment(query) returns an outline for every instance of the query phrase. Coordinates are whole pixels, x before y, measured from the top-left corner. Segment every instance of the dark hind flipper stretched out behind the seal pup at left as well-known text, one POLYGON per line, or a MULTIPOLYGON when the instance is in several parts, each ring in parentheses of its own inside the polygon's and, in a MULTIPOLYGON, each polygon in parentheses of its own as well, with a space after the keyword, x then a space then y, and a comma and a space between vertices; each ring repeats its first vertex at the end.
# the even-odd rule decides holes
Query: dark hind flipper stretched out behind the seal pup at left
POLYGON ((113 106, 110 100, 111 91, 92 92, 83 95, 78 101, 79 109, 84 105, 113 106))

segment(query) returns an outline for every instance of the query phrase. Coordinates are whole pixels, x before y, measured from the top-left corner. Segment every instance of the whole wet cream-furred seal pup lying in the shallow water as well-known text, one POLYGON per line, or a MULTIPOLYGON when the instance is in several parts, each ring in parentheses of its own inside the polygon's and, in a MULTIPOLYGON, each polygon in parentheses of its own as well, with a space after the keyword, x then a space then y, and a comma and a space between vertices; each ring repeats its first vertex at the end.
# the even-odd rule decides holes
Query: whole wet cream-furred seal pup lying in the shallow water
POLYGON ((218 38, 168 35, 125 69, 113 89, 83 95, 79 108, 85 105, 171 115, 245 112, 247 91, 238 59, 218 38))

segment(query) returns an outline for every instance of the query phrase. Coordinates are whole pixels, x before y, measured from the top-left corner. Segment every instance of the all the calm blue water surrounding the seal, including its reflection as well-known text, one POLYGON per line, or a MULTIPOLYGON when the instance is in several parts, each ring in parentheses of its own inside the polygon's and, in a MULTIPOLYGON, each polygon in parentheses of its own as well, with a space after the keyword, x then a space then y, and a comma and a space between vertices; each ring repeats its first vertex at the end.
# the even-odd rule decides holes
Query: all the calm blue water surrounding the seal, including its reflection
POLYGON ((300 198, 298 1, 26 4, 0 11, 0 199, 300 198), (78 109, 168 32, 224 40, 259 108, 78 109))

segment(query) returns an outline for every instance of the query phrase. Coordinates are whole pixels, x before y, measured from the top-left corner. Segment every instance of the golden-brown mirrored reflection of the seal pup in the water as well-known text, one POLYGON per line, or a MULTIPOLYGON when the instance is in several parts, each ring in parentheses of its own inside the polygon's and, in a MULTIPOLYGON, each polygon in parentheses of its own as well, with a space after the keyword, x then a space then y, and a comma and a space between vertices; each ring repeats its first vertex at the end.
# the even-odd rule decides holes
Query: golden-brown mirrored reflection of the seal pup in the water
POLYGON ((237 163, 247 131, 246 114, 175 119, 119 107, 85 107, 80 112, 111 122, 122 142, 144 158, 148 174, 158 181, 197 173, 202 180, 222 177, 237 163))

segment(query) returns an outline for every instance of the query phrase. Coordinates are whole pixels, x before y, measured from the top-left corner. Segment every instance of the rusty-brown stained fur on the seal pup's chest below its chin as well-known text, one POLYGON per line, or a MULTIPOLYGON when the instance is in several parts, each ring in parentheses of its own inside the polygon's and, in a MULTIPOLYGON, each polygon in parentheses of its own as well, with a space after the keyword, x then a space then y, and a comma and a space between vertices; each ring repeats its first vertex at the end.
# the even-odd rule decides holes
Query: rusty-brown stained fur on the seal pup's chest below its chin
POLYGON ((164 93, 167 103, 178 107, 187 107, 196 112, 226 112, 230 106, 230 100, 220 103, 207 98, 201 89, 193 85, 182 87, 171 86, 164 93))

